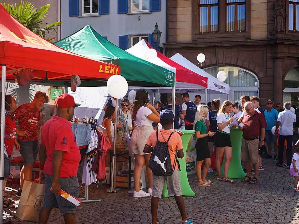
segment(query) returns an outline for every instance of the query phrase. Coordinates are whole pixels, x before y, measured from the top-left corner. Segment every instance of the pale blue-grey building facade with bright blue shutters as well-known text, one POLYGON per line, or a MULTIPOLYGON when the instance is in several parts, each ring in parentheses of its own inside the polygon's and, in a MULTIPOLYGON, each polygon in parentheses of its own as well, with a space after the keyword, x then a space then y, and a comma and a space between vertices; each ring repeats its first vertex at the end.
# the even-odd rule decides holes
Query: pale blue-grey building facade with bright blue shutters
POLYGON ((164 0, 61 1, 61 38, 90 25, 124 50, 141 39, 156 47, 151 33, 157 23, 162 32, 160 42, 166 42, 166 9, 164 0))

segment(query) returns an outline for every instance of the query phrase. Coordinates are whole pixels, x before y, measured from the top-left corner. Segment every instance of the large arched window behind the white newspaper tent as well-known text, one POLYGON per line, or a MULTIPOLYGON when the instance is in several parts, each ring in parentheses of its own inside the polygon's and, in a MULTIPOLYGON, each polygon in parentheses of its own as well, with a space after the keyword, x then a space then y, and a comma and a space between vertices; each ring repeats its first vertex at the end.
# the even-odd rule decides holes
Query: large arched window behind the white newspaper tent
POLYGON ((257 76, 250 71, 238 67, 211 67, 204 69, 217 78, 219 71, 225 71, 227 79, 224 81, 230 86, 229 99, 240 101, 240 96, 258 96, 259 81, 257 76), (242 88, 240 88, 242 87, 242 88))

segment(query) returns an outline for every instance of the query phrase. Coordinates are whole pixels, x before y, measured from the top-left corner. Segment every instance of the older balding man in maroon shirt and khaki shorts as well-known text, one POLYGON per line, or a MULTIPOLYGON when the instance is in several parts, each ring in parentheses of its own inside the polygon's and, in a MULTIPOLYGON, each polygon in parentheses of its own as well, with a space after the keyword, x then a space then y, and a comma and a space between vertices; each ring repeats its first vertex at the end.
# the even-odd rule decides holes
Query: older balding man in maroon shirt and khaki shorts
POLYGON ((265 128, 267 123, 265 117, 254 109, 252 102, 244 104, 245 114, 240 119, 239 129, 243 130, 242 138, 242 161, 245 162, 247 175, 241 182, 257 183, 259 170, 259 147, 264 145, 265 128), (251 162, 254 167, 254 177, 251 179, 251 162))

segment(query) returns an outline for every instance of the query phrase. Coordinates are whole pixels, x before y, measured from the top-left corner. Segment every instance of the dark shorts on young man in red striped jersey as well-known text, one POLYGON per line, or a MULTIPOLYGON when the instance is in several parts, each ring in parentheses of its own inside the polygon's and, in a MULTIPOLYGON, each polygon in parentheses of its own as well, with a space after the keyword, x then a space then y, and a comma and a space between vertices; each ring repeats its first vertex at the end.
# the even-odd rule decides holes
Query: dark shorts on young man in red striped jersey
POLYGON ((39 150, 38 141, 19 141, 20 153, 25 165, 33 165, 39 150))

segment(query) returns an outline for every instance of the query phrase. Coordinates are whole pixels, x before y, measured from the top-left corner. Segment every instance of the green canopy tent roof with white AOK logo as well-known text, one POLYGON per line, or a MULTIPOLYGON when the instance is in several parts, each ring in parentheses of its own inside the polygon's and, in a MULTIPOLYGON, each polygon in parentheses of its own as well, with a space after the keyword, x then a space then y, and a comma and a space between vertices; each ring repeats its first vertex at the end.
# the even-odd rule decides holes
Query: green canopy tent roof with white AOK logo
MULTIPOLYGON (((129 86, 174 86, 174 73, 120 49, 87 25, 55 45, 82 56, 121 67, 129 86)), ((84 86, 106 86, 106 80, 83 81, 84 86)))

